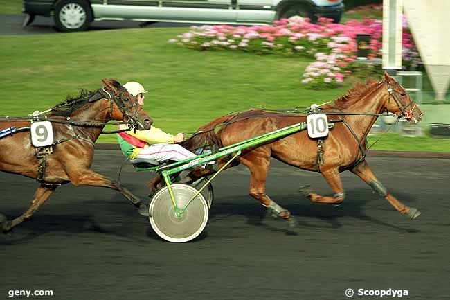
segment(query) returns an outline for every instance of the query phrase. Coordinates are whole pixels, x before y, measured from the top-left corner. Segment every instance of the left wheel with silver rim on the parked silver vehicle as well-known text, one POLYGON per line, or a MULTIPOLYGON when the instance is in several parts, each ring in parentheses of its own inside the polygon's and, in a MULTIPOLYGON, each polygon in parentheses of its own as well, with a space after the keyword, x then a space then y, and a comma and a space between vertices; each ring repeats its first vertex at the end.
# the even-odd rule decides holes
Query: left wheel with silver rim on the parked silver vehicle
POLYGON ((84 0, 60 0, 55 5, 55 25, 64 33, 84 31, 93 20, 91 5, 84 0))

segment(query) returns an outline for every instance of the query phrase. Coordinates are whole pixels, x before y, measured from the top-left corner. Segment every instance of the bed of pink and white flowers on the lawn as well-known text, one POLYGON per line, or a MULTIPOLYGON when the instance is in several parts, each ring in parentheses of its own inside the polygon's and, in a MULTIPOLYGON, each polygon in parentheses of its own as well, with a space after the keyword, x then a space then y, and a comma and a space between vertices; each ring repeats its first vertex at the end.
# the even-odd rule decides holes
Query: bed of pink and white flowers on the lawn
MULTIPOLYGON (((317 88, 339 85, 346 75, 357 69, 375 70, 373 65, 361 67, 354 63, 358 34, 370 35, 369 58, 381 58, 382 21, 368 18, 345 24, 320 18, 318 24, 308 19, 282 19, 271 26, 192 26, 189 32, 169 42, 199 51, 229 50, 314 58, 316 61, 305 69, 302 82, 317 88)), ((403 58, 406 66, 420 62, 406 19, 403 58)))

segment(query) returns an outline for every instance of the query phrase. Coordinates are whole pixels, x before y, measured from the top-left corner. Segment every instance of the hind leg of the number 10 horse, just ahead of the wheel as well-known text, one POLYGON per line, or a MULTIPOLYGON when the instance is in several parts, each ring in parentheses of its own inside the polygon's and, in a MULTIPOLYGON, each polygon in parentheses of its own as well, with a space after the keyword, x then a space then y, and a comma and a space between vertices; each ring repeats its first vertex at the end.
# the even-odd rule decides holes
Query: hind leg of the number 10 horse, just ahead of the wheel
POLYGON ((261 157, 249 153, 241 157, 240 162, 249 168, 251 173, 249 191, 251 197, 258 200, 264 207, 267 207, 272 215, 288 220, 291 216, 290 211, 278 205, 266 194, 266 179, 269 171, 270 156, 264 155, 264 157, 261 157))

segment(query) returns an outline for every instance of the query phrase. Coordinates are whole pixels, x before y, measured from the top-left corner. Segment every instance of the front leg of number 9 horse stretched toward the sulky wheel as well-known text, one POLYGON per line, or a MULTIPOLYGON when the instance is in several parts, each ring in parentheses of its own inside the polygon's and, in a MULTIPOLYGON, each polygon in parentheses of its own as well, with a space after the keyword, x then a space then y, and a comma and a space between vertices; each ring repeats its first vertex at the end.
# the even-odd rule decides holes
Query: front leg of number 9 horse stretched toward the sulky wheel
POLYGON ((119 191, 127 197, 127 199, 138 207, 139 214, 143 216, 148 216, 147 205, 141 202, 141 199, 130 192, 127 188, 120 186, 115 180, 111 180, 103 175, 100 175, 93 170, 82 169, 77 170, 77 172, 67 172, 69 174, 69 179, 74 186, 102 186, 105 188, 111 188, 115 191, 119 191))

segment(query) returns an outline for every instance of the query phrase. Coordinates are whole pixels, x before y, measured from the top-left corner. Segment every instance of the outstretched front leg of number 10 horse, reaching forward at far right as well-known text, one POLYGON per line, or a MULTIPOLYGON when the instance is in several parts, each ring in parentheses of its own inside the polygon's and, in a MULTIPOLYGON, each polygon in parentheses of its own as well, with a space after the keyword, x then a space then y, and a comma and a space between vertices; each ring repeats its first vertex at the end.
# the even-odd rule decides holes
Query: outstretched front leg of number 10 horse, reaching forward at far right
POLYGON ((397 209, 400 213, 406 215, 406 217, 410 219, 415 219, 420 215, 420 211, 415 209, 414 207, 408 207, 402 202, 399 202, 393 195, 388 193, 388 190, 378 181, 377 177, 372 173, 370 167, 367 164, 367 161, 362 161, 361 164, 352 168, 350 170, 352 173, 359 176, 359 178, 363 179, 363 182, 366 182, 375 192, 378 193, 381 197, 388 200, 388 202, 397 209))

